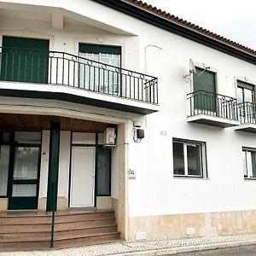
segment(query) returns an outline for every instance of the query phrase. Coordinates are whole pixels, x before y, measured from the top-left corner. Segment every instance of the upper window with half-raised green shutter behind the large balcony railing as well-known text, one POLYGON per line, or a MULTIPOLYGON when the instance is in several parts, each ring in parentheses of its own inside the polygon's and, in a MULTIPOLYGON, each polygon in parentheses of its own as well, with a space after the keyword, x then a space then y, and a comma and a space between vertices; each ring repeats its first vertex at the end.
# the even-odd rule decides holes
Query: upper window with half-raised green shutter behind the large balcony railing
POLYGON ((108 94, 119 92, 121 47, 79 44, 79 56, 80 88, 108 94))

